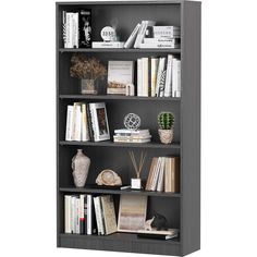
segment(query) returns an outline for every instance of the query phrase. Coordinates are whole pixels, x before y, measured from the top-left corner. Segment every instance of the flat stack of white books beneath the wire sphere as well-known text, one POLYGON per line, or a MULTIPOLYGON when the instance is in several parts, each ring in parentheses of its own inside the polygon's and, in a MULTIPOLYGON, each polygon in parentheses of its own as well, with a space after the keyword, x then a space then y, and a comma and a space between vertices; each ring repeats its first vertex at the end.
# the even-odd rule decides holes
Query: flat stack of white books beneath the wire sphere
POLYGON ((148 143, 151 140, 149 130, 114 130, 113 142, 114 143, 148 143))

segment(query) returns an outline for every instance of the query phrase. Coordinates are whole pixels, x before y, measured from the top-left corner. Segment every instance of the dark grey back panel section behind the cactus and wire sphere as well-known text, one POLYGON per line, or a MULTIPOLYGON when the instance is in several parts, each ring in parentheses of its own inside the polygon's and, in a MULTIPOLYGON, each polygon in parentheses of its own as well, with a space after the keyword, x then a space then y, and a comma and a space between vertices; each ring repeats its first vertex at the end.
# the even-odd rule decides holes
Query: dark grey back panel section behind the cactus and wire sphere
MULTIPOLYGON (((75 100, 65 100, 60 102, 59 110, 59 124, 60 124, 60 140, 64 140, 65 138, 65 127, 66 127, 66 106, 73 105, 75 100)), ((78 100, 81 101, 81 100, 78 100)), ((88 102, 83 100, 84 102, 88 102)), ((105 100, 94 100, 105 101, 105 100)), ((93 101, 89 101, 93 102, 93 101)), ((110 127, 111 136, 117 128, 124 128, 123 119, 127 113, 136 113, 140 117, 140 128, 149 128, 151 134, 152 142, 159 143, 158 135, 158 123, 157 115, 161 111, 171 111, 174 113, 175 123, 174 123, 174 142, 180 142, 180 102, 179 101, 133 101, 133 100, 106 100, 107 106, 107 114, 110 127)))

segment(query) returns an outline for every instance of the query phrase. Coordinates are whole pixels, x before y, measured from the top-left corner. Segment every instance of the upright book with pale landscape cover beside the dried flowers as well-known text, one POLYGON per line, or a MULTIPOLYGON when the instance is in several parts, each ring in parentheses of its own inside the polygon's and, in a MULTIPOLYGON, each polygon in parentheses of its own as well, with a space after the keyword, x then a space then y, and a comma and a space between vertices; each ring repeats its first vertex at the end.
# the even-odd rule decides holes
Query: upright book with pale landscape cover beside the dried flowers
POLYGON ((107 94, 126 95, 128 84, 134 84, 134 62, 109 61, 107 94))

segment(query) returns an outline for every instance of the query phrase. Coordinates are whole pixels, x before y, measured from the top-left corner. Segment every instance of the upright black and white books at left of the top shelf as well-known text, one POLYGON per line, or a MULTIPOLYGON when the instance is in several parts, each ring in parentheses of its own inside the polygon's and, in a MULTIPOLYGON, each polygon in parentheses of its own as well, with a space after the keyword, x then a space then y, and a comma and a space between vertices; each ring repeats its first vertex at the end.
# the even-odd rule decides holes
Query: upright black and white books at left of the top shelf
POLYGON ((62 35, 64 48, 91 47, 91 11, 62 13, 62 35))

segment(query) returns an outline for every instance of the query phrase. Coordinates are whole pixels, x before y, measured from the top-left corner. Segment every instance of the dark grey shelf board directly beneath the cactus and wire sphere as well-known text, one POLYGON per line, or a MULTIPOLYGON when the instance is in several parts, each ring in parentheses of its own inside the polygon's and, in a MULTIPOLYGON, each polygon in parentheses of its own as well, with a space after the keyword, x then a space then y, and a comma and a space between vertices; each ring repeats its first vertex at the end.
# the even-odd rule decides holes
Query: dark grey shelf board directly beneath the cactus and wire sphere
POLYGON ((172 143, 164 145, 160 143, 113 143, 111 140, 103 142, 66 142, 61 140, 61 146, 95 146, 95 147, 134 147, 134 148, 160 148, 160 149, 180 149, 180 144, 172 143))

